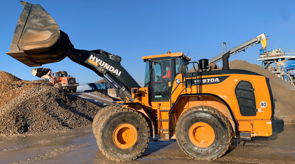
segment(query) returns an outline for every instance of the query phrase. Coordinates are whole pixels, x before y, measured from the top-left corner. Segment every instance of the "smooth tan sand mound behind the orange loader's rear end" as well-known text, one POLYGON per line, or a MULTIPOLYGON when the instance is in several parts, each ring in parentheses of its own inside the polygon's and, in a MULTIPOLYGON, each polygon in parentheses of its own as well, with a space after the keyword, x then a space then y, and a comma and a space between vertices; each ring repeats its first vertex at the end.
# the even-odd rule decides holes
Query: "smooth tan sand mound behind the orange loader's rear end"
POLYGON ((233 60, 229 63, 229 67, 230 69, 256 72, 269 78, 273 98, 277 99, 277 102, 275 102, 275 116, 283 118, 285 124, 295 123, 295 86, 278 78, 276 75, 261 66, 250 64, 247 61, 233 60))

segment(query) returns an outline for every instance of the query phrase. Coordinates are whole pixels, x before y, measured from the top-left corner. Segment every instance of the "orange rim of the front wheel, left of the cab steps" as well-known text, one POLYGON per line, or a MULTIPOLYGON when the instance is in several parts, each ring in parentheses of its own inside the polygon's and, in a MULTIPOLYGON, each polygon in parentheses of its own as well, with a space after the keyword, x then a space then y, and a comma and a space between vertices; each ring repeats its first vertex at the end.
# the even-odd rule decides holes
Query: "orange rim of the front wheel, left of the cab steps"
POLYGON ((137 140, 137 130, 131 124, 121 124, 117 126, 113 133, 113 141, 117 147, 128 149, 132 147, 137 140))

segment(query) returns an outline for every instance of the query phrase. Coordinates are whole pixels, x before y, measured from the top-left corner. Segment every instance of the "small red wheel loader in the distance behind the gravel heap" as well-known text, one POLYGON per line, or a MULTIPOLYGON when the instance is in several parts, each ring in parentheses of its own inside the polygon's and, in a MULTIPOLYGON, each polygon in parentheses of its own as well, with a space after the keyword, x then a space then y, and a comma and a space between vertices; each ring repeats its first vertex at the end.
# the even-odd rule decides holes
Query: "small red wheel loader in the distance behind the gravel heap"
POLYGON ((70 93, 76 93, 77 86, 79 83, 76 83, 76 78, 71 75, 68 75, 67 71, 57 71, 52 72, 51 69, 48 68, 35 68, 31 70, 33 76, 37 76, 38 78, 45 78, 49 81, 51 86, 61 90, 69 90, 70 93))

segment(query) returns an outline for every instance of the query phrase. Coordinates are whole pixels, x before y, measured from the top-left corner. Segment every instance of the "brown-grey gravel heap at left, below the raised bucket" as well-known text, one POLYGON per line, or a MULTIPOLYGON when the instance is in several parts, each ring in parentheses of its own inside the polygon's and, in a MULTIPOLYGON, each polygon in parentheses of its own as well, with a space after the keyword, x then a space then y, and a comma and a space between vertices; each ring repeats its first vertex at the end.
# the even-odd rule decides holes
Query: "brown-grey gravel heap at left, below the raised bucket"
POLYGON ((90 126, 100 107, 50 86, 46 80, 21 80, 7 72, 0 82, 0 135, 61 131, 90 126), (7 94, 8 96, 5 96, 7 94), (3 102, 5 101, 5 102, 3 102))

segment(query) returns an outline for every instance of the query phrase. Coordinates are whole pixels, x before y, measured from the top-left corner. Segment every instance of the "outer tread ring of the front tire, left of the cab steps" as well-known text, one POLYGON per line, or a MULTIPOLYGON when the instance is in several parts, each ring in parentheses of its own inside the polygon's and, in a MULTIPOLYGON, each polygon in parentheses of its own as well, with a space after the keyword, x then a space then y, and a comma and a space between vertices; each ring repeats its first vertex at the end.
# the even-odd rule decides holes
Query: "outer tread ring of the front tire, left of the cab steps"
POLYGON ((138 158, 138 157, 139 157, 139 156, 145 151, 145 149, 148 147, 148 143, 149 143, 149 141, 150 141, 150 137, 149 137, 149 136, 150 136, 150 128, 149 128, 149 125, 148 125, 148 121, 145 119, 145 117, 144 117, 141 113, 139 113, 139 112, 137 112, 137 111, 135 111, 135 110, 128 109, 128 108, 113 109, 113 110, 110 111, 107 115, 105 115, 105 116, 103 117, 103 119, 100 121, 99 125, 100 125, 100 126, 97 126, 97 133, 96 133, 96 141, 97 141, 98 148, 99 148, 99 150, 102 152, 102 154, 104 154, 104 156, 106 156, 108 159, 110 159, 110 160, 112 160, 112 161, 116 161, 116 162, 120 162, 120 161, 131 161, 131 160, 133 160, 133 159, 138 158), (147 128, 148 128, 148 141, 147 141, 147 143, 146 143, 146 145, 145 145, 145 147, 144 147, 144 150, 143 150, 140 154, 137 154, 136 156, 131 157, 131 158, 128 158, 128 159, 125 159, 125 160, 120 160, 120 159, 111 158, 111 157, 108 155, 107 150, 104 150, 104 149, 103 149, 102 144, 101 144, 101 142, 100 142, 100 134, 101 134, 101 130, 102 130, 102 125, 108 120, 108 118, 110 118, 111 115, 116 114, 116 113, 120 113, 120 112, 132 112, 132 113, 137 114, 138 116, 140 116, 141 119, 144 120, 145 125, 146 125, 147 128))

